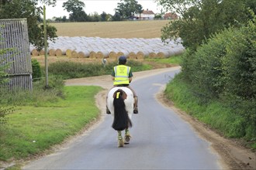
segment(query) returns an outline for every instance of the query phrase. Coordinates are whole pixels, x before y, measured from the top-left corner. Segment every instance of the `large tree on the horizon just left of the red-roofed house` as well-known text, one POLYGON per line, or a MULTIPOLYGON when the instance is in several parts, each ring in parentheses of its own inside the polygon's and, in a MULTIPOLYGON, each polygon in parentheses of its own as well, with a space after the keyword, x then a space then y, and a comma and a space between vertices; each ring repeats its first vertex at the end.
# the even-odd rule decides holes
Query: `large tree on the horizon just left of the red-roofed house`
POLYGON ((121 0, 115 11, 119 13, 122 19, 130 19, 133 15, 140 14, 143 9, 136 0, 121 0))

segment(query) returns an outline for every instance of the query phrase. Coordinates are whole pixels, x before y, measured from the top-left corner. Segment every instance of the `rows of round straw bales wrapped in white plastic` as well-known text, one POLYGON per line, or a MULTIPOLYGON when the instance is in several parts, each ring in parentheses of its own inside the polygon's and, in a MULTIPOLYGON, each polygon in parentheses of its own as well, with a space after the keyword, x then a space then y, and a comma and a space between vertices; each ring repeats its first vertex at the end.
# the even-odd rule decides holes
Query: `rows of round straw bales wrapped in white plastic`
MULTIPOLYGON (((85 36, 59 36, 55 42, 49 42, 48 54, 50 56, 67 55, 69 57, 90 58, 115 58, 127 56, 141 59, 144 56, 151 58, 163 58, 183 53, 184 47, 181 39, 164 43, 160 38, 155 39, 123 39, 123 38, 100 38, 85 36)), ((37 52, 34 46, 30 46, 33 56, 43 55, 43 51, 37 52)))

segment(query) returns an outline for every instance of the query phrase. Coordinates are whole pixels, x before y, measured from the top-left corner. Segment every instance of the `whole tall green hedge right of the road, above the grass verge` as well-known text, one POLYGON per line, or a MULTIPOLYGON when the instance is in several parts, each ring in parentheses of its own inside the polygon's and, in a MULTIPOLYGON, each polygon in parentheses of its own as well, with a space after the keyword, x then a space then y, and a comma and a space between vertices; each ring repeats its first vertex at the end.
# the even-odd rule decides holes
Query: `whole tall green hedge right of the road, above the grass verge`
POLYGON ((226 29, 195 53, 185 53, 182 70, 195 90, 207 97, 227 92, 240 97, 256 93, 255 23, 226 29))

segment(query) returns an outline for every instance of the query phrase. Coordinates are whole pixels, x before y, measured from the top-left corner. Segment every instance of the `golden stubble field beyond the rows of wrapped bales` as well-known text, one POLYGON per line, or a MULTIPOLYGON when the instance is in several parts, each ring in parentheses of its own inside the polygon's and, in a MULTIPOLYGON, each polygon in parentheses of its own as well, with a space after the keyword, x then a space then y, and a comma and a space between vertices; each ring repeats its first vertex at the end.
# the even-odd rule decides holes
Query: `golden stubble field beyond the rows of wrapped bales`
POLYGON ((161 37, 161 28, 168 22, 170 21, 66 22, 50 25, 57 28, 57 36, 152 39, 161 37))

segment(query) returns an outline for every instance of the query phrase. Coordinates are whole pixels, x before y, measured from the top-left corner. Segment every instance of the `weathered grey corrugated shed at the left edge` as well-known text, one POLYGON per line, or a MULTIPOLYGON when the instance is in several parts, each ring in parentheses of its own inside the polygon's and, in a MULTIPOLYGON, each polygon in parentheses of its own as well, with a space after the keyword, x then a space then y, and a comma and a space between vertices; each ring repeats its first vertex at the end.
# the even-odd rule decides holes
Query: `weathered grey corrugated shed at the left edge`
POLYGON ((0 49, 11 49, 0 54, 0 65, 9 63, 6 70, 10 89, 32 90, 32 65, 26 19, 0 19, 0 49))

